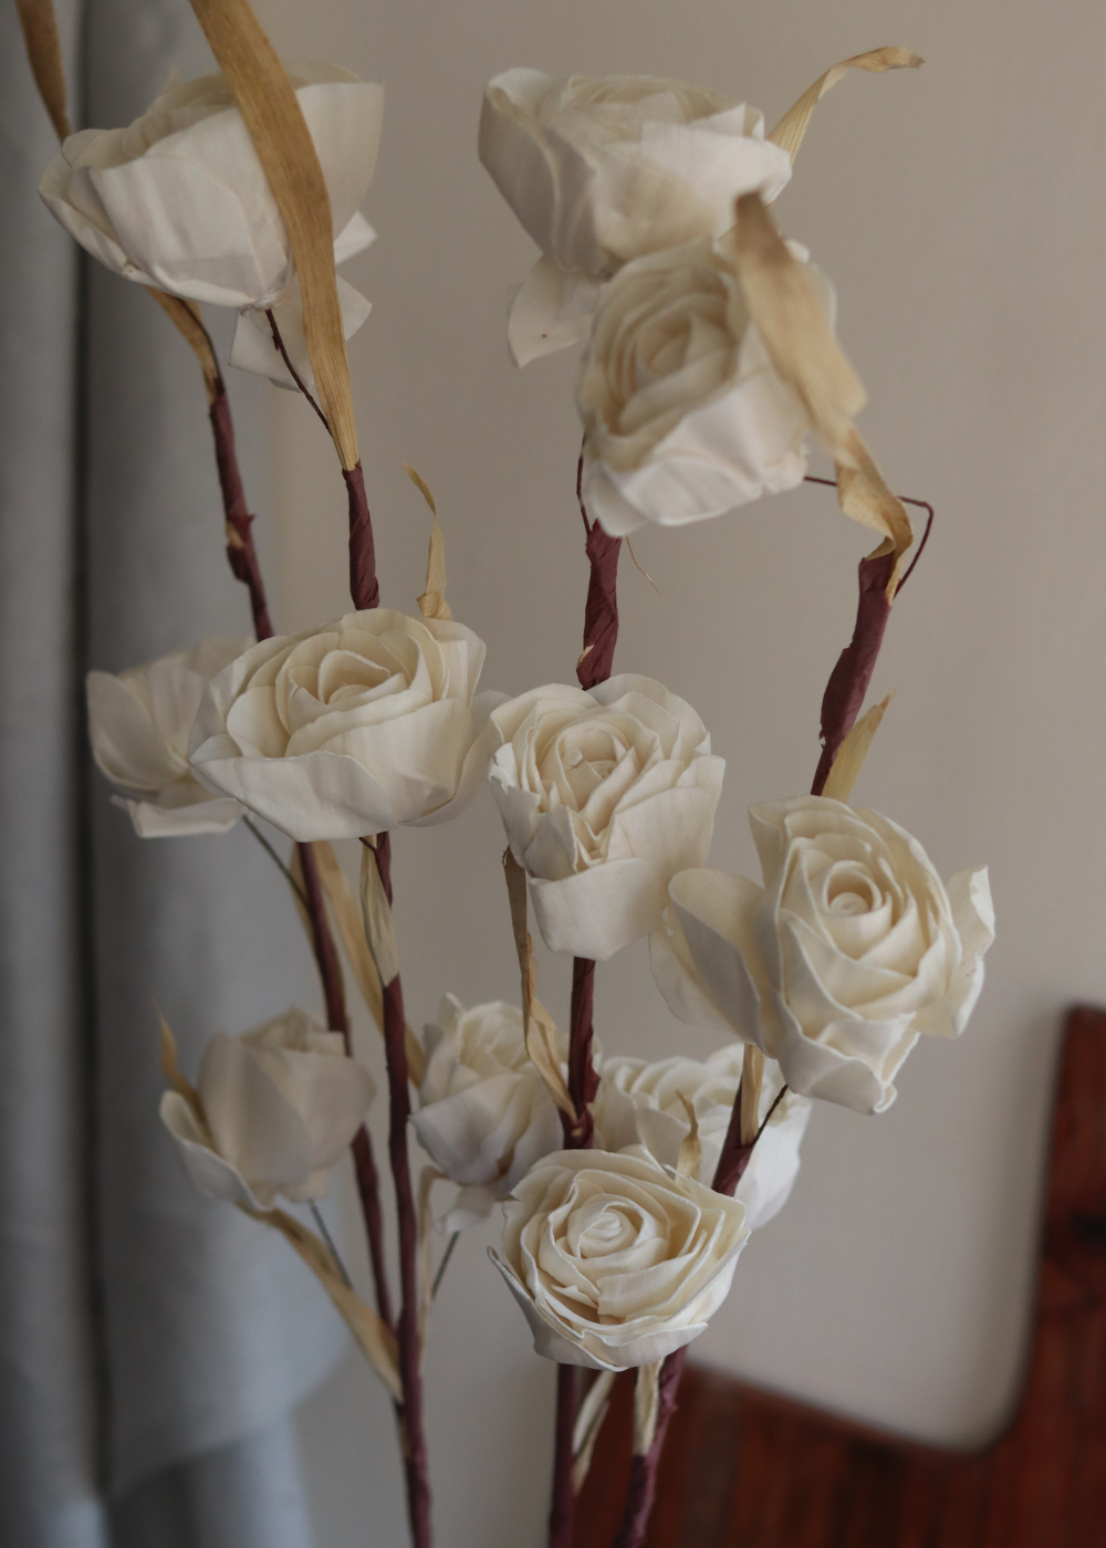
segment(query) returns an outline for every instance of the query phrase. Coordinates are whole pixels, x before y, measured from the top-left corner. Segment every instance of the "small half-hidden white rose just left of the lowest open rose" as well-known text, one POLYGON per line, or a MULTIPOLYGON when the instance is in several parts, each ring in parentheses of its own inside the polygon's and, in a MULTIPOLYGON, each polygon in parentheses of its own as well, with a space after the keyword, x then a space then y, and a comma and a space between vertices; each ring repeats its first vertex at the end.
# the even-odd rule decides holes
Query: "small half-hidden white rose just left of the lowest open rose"
POLYGON ((534 1161, 556 1150, 561 1119, 530 1062, 522 1011, 503 1000, 466 1011, 448 994, 426 1028, 426 1077, 410 1121, 423 1149, 462 1187, 446 1228, 486 1217, 534 1161))

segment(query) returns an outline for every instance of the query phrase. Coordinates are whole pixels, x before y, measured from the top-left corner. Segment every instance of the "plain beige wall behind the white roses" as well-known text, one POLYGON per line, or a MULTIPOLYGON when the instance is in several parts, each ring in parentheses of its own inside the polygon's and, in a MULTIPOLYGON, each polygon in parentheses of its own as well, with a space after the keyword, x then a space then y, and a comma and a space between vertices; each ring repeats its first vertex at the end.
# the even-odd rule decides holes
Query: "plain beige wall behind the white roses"
MULTIPOLYGON (((846 54, 897 42, 926 56, 920 74, 835 90, 778 215, 838 285, 840 331, 872 399, 864 433, 894 486, 939 512, 895 608, 874 686, 898 695, 857 794, 919 834, 943 873, 990 862, 999 941, 968 1034, 919 1048, 888 1116, 815 1115, 795 1197, 748 1249, 697 1354, 914 1435, 985 1437, 1022 1358, 1060 1017, 1073 998, 1106 998, 1101 9, 259 9, 287 56, 328 56, 387 85, 367 201, 380 243, 350 274, 375 305, 352 364, 384 601, 414 608, 423 588, 410 461, 438 495, 454 611, 488 642, 486 684, 508 690, 572 680, 586 567, 573 362, 519 373, 507 358, 505 291, 531 248, 476 159, 485 79, 514 63, 685 76, 747 94, 771 122, 846 54)), ((280 598, 285 622, 305 625, 345 605, 342 494, 311 415, 274 396, 280 598)), ((713 728, 728 759, 714 864, 753 868, 745 807, 809 785, 864 537, 807 488, 635 546, 663 602, 624 560, 618 666, 663 678, 713 728)), ((463 822, 397 841, 415 1023, 443 989, 514 994, 500 848, 486 796, 463 822)), ((564 1015, 567 963, 542 974, 564 1015)), ((613 1050, 708 1046, 668 1015, 643 946, 601 971, 596 1025, 613 1050)), ((551 1370, 485 1263, 491 1237, 462 1241, 431 1339, 446 1548, 538 1543, 545 1509, 551 1370)), ((387 1409, 353 1361, 308 1407, 305 1433, 324 1548, 401 1542, 387 1409)))

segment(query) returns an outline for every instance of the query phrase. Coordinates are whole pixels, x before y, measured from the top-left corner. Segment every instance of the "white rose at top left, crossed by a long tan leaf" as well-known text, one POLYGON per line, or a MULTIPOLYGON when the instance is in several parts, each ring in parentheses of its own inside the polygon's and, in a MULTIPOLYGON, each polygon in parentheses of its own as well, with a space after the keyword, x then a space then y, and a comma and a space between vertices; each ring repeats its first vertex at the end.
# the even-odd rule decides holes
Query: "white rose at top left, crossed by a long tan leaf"
MULTIPOLYGON (((335 260, 342 262, 373 240, 358 206, 376 166, 384 88, 336 65, 288 73, 322 164, 335 260)), ((274 307, 293 364, 310 373, 288 234, 222 74, 170 77, 129 128, 70 135, 39 192, 81 246, 124 279, 217 307, 274 307)), ((369 303, 342 282, 339 300, 349 337, 369 303)), ((240 324, 231 358, 291 385, 265 317, 240 324)))

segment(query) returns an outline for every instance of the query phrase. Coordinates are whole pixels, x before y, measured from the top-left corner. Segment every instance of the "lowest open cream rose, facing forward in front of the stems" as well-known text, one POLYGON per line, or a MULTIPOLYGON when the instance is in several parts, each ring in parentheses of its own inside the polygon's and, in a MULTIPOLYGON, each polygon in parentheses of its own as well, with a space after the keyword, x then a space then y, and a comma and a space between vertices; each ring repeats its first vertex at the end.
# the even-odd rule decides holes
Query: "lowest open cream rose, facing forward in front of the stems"
POLYGON ((747 1240, 739 1200, 644 1150, 558 1150, 514 1189, 491 1257, 539 1354, 627 1370, 699 1337, 747 1240))

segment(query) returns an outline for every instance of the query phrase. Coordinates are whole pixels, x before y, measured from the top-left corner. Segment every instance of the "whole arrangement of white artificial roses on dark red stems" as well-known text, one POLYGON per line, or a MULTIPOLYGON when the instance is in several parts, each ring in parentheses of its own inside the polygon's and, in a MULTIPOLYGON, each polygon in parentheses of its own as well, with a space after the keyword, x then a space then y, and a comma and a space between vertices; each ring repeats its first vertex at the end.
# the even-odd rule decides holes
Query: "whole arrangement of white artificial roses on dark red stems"
POLYGON ((161 1116, 203 1194, 288 1238, 387 1387, 417 1548, 432 1540, 420 1372, 432 1297, 457 1232, 502 1206, 502 1246, 483 1272, 558 1364, 550 1543, 572 1542, 610 1384, 635 1370, 617 1539, 632 1548, 688 1347, 750 1235, 787 1201, 812 1104, 884 1111, 917 1040, 967 1025, 993 938, 984 868, 942 881, 915 837, 849 805, 886 709, 861 714, 872 669, 922 545, 857 430, 864 393, 835 336, 833 289, 773 217, 824 91, 849 68, 920 60, 902 48, 844 60, 771 133, 756 110, 678 80, 510 70, 488 85, 480 159, 541 249, 511 299, 510 350, 519 365, 581 351, 589 563, 576 681, 507 698, 479 687, 485 647, 446 601, 437 514, 418 611, 381 605, 345 358, 369 303, 336 268, 373 240, 359 206, 383 91, 331 65, 285 68, 246 0, 192 5, 220 73, 170 80, 127 128, 70 133, 50 3, 20 0, 62 141, 42 197, 194 348, 228 560, 252 615, 249 636, 91 672, 93 755, 139 837, 256 819, 287 834, 285 864, 256 828, 322 985, 322 1019, 291 1008, 237 1036, 215 1031, 194 1082, 163 1023, 161 1116), (274 632, 201 305, 237 310, 231 364, 302 393, 338 454, 353 610, 301 635, 274 632), (723 762, 692 704, 632 670, 612 675, 617 571, 623 540, 646 523, 722 517, 796 486, 810 440, 833 458, 841 509, 878 543, 826 689, 810 794, 750 810, 756 882, 709 868, 723 762), (445 994, 420 1039, 404 1015, 390 833, 460 817, 485 782, 507 836, 517 998, 465 1008, 445 994), (339 842, 359 851, 356 889, 339 842), (538 998, 531 913, 545 944, 573 958, 562 1028, 538 998), (717 1029, 702 1062, 649 1063, 595 1042, 596 964, 644 937, 674 1015, 717 1029), (347 974, 384 1039, 390 1252, 364 1125, 375 1084, 352 1051, 347 974), (412 1132, 428 1156, 418 1180, 412 1132), (347 1150, 372 1305, 314 1204, 347 1150), (452 1194, 435 1272, 440 1181, 452 1194))

